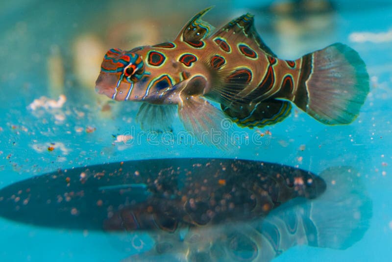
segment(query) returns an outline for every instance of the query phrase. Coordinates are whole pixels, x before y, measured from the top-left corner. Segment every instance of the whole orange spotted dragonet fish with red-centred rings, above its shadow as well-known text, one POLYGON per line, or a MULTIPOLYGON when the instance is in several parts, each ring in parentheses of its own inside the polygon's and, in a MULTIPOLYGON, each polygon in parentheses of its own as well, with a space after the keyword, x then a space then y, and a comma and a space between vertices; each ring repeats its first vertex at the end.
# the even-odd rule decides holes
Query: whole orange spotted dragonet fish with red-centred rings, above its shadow
POLYGON ((205 131, 223 134, 225 118, 240 127, 273 125, 290 114, 292 103, 326 125, 357 117, 369 77, 356 51, 335 43, 296 60, 279 59, 257 33, 253 15, 213 32, 201 20, 210 9, 197 13, 172 42, 110 49, 96 91, 143 102, 136 120, 147 130, 167 130, 178 110, 187 131, 199 138, 205 131))

